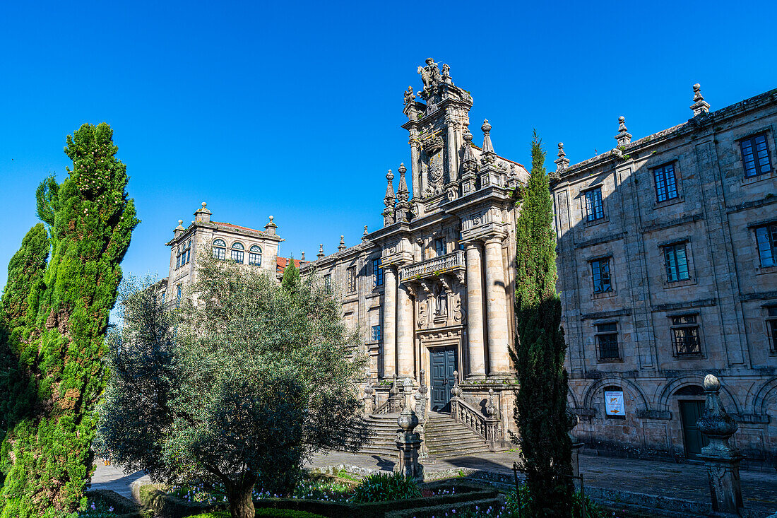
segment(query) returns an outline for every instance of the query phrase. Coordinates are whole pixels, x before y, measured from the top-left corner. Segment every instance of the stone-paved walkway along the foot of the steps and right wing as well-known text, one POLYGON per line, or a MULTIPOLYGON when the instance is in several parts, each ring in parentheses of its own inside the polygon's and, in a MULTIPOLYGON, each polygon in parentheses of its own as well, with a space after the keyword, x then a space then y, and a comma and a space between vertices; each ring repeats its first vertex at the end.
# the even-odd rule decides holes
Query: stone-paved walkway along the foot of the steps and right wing
MULTIPOLYGON (((421 460, 424 471, 443 471, 470 467, 497 473, 511 473, 517 453, 482 453, 477 457, 421 460)), ((350 464, 369 469, 391 471, 395 460, 378 455, 352 453, 322 453, 311 462, 312 467, 350 464)), ((586 487, 616 489, 684 499, 690 502, 709 502, 706 467, 702 464, 674 464, 658 460, 635 460, 613 457, 580 455, 580 473, 586 487)), ((742 494, 746 509, 760 516, 777 511, 777 474, 775 471, 740 471, 742 494)))

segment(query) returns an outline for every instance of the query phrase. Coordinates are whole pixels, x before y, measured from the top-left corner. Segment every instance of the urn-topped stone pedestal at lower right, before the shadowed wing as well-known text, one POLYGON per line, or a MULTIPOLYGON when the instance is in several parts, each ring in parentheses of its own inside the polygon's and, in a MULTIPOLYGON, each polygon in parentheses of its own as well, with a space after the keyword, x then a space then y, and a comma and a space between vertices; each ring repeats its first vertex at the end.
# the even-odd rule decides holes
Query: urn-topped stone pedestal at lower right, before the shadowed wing
POLYGON ((729 444, 737 423, 726 414, 720 401, 720 381, 708 374, 704 378, 706 402, 704 414, 696 422, 709 444, 699 456, 706 464, 713 512, 709 516, 743 516, 742 484, 739 478, 740 451, 729 444))

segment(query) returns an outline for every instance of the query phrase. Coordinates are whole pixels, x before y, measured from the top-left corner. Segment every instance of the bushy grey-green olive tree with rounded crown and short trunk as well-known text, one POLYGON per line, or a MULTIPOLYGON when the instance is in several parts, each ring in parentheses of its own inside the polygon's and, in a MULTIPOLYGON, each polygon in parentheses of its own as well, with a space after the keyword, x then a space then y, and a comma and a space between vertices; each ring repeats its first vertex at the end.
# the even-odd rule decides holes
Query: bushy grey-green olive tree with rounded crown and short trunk
MULTIPOLYGON (((138 321, 162 318, 153 317, 159 310, 151 304, 138 311, 138 321)), ((266 271, 200 254, 197 282, 176 313, 172 359, 147 355, 148 344, 169 341, 166 325, 122 349, 140 366, 132 383, 152 385, 142 379, 155 376, 156 362, 172 367, 163 369, 170 378, 158 397, 145 399, 158 439, 132 424, 141 413, 131 401, 112 396, 126 376, 115 387, 111 381, 99 436, 114 464, 148 464, 159 481, 221 485, 232 516, 252 516, 255 485, 290 495, 312 453, 356 451, 368 438, 351 383, 364 372, 364 358, 354 357, 357 336, 317 279, 290 290, 266 271), (161 452, 158 464, 145 455, 147 445, 161 452)), ((120 332, 134 336, 131 328, 120 332)))

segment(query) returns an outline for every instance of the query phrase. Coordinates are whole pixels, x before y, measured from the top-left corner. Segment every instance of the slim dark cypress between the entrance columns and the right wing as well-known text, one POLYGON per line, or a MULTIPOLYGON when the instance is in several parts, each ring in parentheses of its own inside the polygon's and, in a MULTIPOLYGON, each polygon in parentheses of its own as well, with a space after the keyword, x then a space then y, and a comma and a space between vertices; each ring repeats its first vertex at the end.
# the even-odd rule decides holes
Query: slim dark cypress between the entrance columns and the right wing
POLYGON ((572 443, 567 433, 568 378, 561 301, 556 294, 556 233, 545 173, 545 151, 534 133, 531 173, 521 187, 516 222, 515 315, 517 337, 510 352, 519 389, 514 418, 534 516, 571 516, 572 443))

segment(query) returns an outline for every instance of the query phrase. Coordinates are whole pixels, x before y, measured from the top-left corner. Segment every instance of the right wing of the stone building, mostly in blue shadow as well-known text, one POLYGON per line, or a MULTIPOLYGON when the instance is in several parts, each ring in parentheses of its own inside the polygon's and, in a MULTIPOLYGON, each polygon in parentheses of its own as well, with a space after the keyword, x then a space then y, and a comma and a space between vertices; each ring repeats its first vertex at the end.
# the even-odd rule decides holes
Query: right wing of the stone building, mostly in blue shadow
POLYGON ((553 194, 575 433, 600 449, 695 457, 691 414, 714 373, 740 424, 737 446, 773 459, 777 267, 775 236, 763 229, 777 222, 777 89, 709 112, 697 85, 693 101, 690 120, 634 142, 621 117, 615 149, 575 166, 559 144, 553 194))

